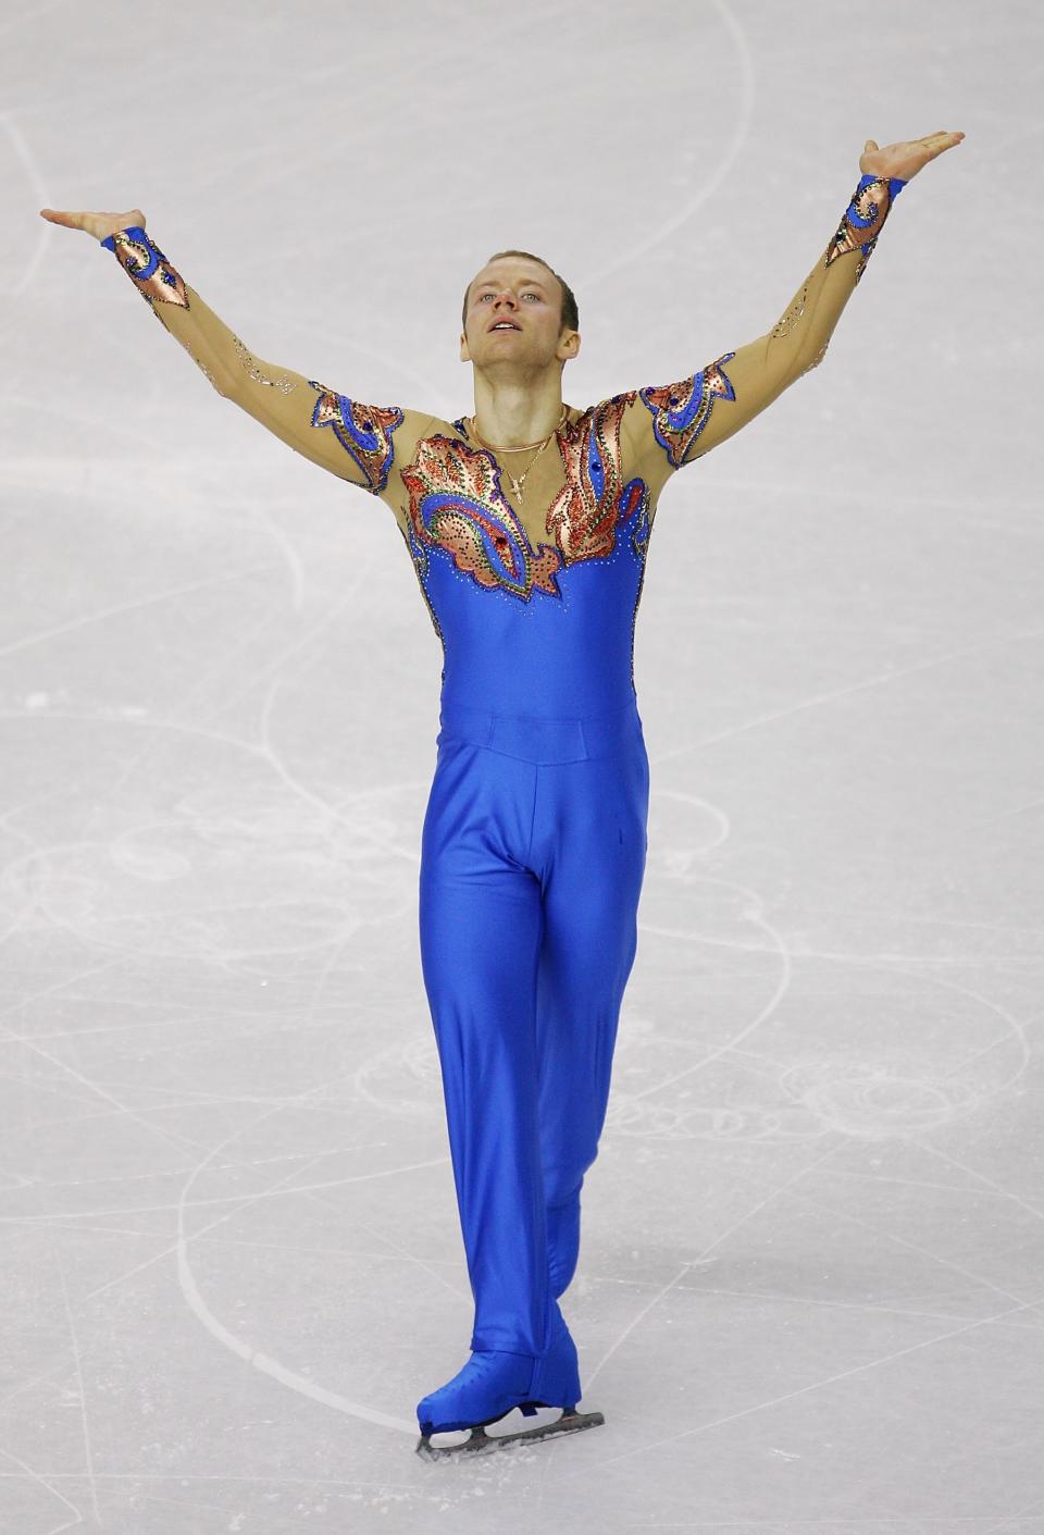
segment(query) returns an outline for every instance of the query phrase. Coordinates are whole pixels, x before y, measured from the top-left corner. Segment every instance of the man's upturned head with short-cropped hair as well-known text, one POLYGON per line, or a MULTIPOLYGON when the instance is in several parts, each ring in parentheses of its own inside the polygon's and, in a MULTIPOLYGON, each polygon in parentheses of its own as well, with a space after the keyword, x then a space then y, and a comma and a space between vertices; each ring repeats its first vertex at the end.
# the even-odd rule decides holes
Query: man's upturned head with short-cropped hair
POLYGON ((580 336, 560 332, 560 305, 562 289, 547 267, 524 256, 491 261, 468 289, 461 361, 504 373, 576 356, 580 336))

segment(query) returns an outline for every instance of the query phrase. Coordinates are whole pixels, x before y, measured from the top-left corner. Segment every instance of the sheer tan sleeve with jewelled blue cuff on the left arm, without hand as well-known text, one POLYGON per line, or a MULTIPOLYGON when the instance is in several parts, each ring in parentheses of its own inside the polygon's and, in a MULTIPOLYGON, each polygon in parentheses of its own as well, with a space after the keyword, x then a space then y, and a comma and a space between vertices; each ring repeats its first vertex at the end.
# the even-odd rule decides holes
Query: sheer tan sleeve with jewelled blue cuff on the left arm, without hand
POLYGON ((399 405, 361 404, 318 379, 255 358, 144 229, 123 229, 101 244, 115 253, 152 313, 218 394, 339 479, 375 496, 388 493, 395 433, 402 430, 416 442, 431 416, 399 405))

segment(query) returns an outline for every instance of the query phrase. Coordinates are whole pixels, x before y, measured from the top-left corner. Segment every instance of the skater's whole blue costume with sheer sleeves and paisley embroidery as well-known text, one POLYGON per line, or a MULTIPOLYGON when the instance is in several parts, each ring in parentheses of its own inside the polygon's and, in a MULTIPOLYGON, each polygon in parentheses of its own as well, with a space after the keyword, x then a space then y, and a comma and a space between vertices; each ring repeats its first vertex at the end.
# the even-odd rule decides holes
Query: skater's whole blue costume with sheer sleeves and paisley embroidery
POLYGON ((821 361, 903 184, 860 180, 765 336, 677 384, 567 410, 542 537, 464 419, 259 362, 143 229, 103 241, 218 393, 390 505, 442 643, 419 930, 474 1328, 471 1360, 418 1406, 428 1438, 580 1397, 557 1299, 637 942, 649 764, 634 623, 657 499, 821 361))

